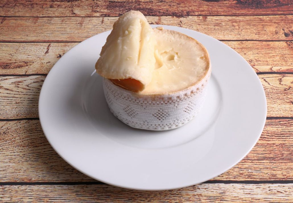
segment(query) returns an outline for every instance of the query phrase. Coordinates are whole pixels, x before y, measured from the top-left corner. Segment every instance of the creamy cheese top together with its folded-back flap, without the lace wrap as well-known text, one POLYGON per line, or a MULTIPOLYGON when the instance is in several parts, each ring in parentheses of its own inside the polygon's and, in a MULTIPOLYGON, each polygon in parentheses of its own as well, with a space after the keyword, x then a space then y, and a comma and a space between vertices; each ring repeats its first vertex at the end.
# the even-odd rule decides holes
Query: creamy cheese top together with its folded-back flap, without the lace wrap
POLYGON ((118 18, 96 63, 101 76, 141 94, 186 89, 208 68, 209 56, 200 43, 176 31, 152 29, 139 11, 118 18))

